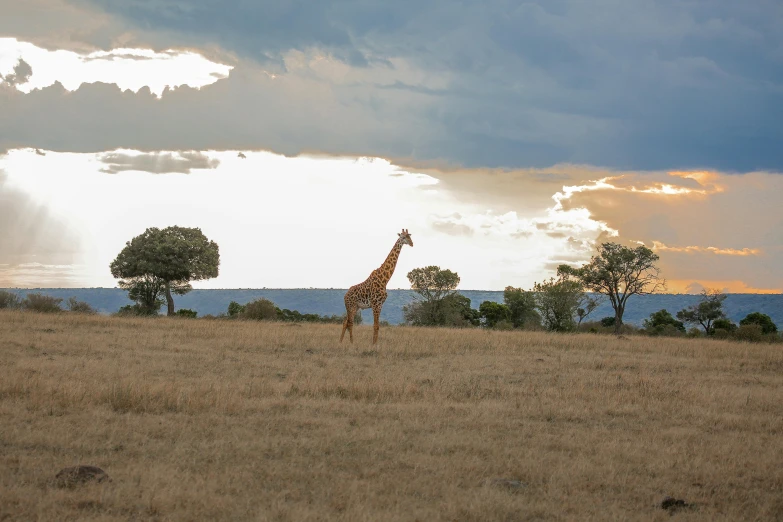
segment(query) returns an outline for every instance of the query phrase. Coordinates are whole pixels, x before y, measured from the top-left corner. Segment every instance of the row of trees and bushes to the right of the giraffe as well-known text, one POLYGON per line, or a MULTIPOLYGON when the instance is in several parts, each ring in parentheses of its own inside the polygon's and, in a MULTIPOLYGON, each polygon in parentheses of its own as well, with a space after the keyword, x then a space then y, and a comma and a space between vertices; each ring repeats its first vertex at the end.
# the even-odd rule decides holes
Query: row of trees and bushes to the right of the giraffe
POLYGON ((649 248, 603 243, 598 254, 581 267, 560 265, 556 277, 535 283, 531 290, 512 286, 503 292, 503 302, 482 302, 471 308, 470 299, 459 294, 459 275, 438 266, 408 273, 414 301, 403 308, 405 324, 413 326, 482 327, 497 330, 546 330, 550 332, 638 333, 654 336, 710 336, 744 341, 779 341, 772 319, 759 312, 748 314, 739 325, 726 318, 726 295, 705 290, 699 302, 677 312, 650 315, 642 328, 623 323, 628 300, 665 288, 649 248), (613 316, 587 321, 608 299, 613 316), (686 325, 691 325, 690 330, 686 325), (697 328, 700 327, 701 329, 697 328), (703 330, 703 332, 702 332, 703 330))

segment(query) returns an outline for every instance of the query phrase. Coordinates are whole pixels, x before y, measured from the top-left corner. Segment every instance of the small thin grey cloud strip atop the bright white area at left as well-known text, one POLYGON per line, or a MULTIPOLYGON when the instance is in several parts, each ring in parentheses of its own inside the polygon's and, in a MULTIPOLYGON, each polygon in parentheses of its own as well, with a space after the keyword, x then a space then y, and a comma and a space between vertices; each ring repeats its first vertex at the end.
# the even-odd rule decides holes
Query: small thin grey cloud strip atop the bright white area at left
POLYGON ((117 174, 118 172, 128 170, 138 170, 152 174, 190 174, 192 169, 215 169, 220 165, 220 160, 210 158, 206 154, 196 151, 146 154, 109 152, 101 155, 99 160, 107 165, 101 169, 101 172, 107 174, 117 174))

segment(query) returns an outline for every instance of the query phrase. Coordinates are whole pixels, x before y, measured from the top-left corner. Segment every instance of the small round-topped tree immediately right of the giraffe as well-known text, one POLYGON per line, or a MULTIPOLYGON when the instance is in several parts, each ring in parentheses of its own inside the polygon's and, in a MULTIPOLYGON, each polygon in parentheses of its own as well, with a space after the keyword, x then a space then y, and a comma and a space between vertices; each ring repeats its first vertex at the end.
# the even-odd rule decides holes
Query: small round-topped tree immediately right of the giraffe
POLYGON ((418 295, 403 308, 406 321, 421 326, 445 324, 447 315, 453 313, 455 301, 448 298, 456 293, 459 275, 431 265, 408 272, 408 281, 418 295))

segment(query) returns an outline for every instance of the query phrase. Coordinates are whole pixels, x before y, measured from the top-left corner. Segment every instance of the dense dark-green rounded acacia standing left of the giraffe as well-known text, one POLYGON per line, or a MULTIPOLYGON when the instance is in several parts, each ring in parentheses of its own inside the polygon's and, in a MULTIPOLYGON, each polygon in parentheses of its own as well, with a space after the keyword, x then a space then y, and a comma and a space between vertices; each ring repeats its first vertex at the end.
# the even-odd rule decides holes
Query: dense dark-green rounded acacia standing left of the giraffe
POLYGON ((161 296, 174 315, 172 294, 193 289, 191 281, 217 277, 220 253, 199 228, 148 228, 125 244, 111 262, 111 274, 142 308, 157 311, 161 296))

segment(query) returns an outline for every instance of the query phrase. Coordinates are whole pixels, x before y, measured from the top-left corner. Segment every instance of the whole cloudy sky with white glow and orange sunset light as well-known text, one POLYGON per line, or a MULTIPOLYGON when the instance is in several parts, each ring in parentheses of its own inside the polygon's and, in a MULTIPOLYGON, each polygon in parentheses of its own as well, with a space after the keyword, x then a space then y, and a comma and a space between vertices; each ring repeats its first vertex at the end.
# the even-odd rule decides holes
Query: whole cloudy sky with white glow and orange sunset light
POLYGON ((113 287, 148 227, 198 288, 413 268, 531 288, 604 241, 669 292, 783 292, 783 4, 0 0, 0 287, 113 287))

